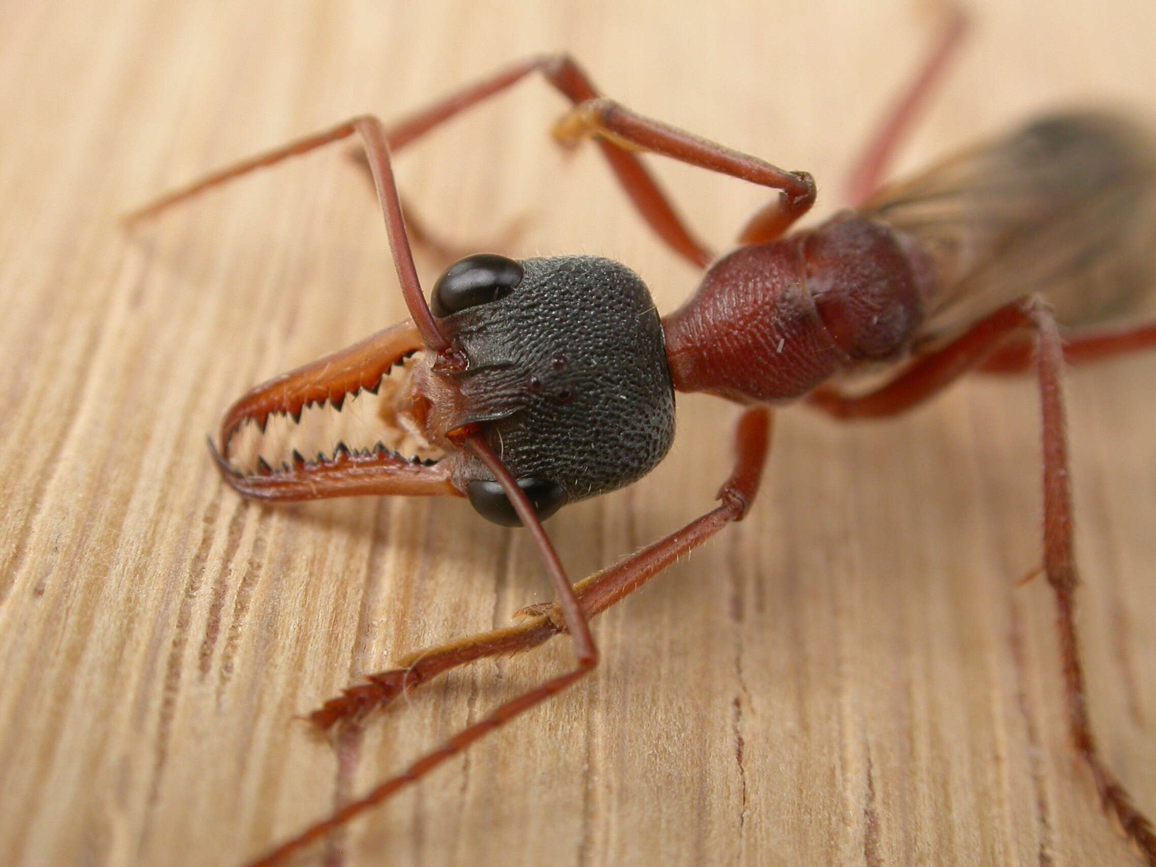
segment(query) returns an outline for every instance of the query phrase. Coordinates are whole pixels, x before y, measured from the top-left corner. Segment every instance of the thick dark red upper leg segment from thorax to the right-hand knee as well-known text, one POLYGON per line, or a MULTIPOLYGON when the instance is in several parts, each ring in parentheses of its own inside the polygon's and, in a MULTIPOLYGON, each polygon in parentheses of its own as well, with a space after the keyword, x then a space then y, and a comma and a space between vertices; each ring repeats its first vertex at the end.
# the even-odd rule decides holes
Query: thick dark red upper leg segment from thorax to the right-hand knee
POLYGON ((999 347, 1032 327, 1023 303, 1000 307, 986 319, 922 358, 917 358, 895 379, 866 394, 847 395, 820 386, 807 402, 836 418, 879 418, 897 415, 933 398, 970 370, 983 364, 999 347))

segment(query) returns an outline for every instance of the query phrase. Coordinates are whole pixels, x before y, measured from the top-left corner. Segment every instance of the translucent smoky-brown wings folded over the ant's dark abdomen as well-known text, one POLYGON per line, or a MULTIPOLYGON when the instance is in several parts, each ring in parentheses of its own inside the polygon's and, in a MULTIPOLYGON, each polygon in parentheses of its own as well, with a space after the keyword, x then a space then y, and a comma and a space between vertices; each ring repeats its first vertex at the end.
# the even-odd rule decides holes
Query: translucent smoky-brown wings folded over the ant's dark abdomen
POLYGON ((1070 327, 1156 296, 1156 140, 1114 116, 1043 118, 884 188, 862 213, 931 257, 938 290, 917 350, 1031 292, 1070 327))

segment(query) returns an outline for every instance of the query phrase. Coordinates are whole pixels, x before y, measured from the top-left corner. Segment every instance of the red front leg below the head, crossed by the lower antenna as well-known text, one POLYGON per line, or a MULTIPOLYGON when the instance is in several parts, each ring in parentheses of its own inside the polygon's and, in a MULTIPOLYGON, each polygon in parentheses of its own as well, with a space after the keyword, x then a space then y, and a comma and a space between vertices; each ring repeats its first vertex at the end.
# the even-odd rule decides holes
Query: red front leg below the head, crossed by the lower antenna
MULTIPOLYGON (((747 410, 739 421, 735 435, 734 470, 719 490, 721 505, 623 562, 578 581, 575 594, 583 613, 587 617, 601 614, 727 524, 741 520, 758 489, 770 446, 770 432, 769 409, 747 410)), ((313 711, 309 718, 323 729, 329 729, 339 722, 356 722, 369 711, 387 705, 398 696, 451 668, 536 647, 565 629, 556 603, 531 606, 518 612, 518 616, 526 620, 507 629, 469 636, 412 653, 401 660, 400 667, 369 675, 365 683, 349 687, 339 697, 313 711)))

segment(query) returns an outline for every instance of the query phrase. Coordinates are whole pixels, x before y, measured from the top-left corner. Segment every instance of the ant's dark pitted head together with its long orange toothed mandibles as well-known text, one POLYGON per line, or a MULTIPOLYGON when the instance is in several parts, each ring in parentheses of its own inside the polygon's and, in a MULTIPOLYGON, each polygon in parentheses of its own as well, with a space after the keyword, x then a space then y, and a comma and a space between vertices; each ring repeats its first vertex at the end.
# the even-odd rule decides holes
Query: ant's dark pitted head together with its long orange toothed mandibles
POLYGON ((414 319, 232 405, 214 454, 234 488, 265 499, 466 496, 486 518, 513 525, 506 488, 514 483, 544 519, 633 482, 670 447, 662 326, 624 266, 585 255, 472 255, 442 275, 429 306, 420 289, 412 301, 414 319), (376 418, 361 408, 365 392, 377 395, 376 418), (324 421, 347 403, 358 406, 354 418, 369 422, 377 444, 306 445, 303 415, 316 422, 319 408, 324 421), (247 462, 238 455, 246 444, 247 462), (511 477, 495 477, 480 444, 511 477))

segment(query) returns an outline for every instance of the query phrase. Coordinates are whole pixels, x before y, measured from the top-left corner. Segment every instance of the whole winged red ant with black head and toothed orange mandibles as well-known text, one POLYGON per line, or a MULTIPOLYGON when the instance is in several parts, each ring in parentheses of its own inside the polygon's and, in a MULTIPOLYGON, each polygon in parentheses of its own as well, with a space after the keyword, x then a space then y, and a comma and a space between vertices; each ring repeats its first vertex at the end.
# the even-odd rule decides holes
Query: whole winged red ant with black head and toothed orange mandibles
POLYGON ((861 156, 847 209, 787 234, 815 202, 806 172, 643 117, 605 98, 566 55, 528 59, 392 126, 362 116, 209 175, 143 207, 135 222, 209 187, 331 142, 360 136, 412 319, 253 388, 228 410, 213 457, 246 497, 301 501, 350 495, 467 497, 484 518, 534 538, 557 602, 519 612, 518 625, 423 650, 370 675, 310 714, 321 729, 368 712, 457 666, 573 640, 575 666, 502 704, 327 818, 254 861, 282 864, 451 756, 584 677, 599 660, 588 621, 661 572, 754 503, 771 438, 772 406, 803 401, 832 418, 911 409, 970 371, 1036 370, 1042 405, 1043 572, 1058 605, 1067 724, 1104 809, 1156 865, 1156 833, 1105 765, 1092 735, 1074 616, 1076 566, 1061 375, 1156 347, 1156 324, 1110 326, 1150 289, 1156 142, 1095 112, 1048 116, 881 186, 897 144, 966 31, 948 17, 919 74, 861 156), (538 73, 571 103, 563 143, 593 139, 635 208, 679 255, 705 269, 697 291, 659 317, 642 280, 587 255, 521 261, 483 253, 451 266, 427 303, 410 252, 391 154, 439 124, 538 73), (659 154, 775 191, 717 255, 687 229, 639 160, 659 154), (1151 213, 1150 209, 1148 212, 1151 213), (1061 340, 1061 327, 1065 340, 1061 340), (868 391, 842 381, 894 371, 868 391), (436 457, 378 443, 279 468, 232 460, 243 427, 271 416, 340 409, 400 369, 381 421, 436 457), (630 484, 674 436, 675 392, 707 392, 744 407, 720 504, 623 562, 571 586, 542 521, 578 499, 630 484))

